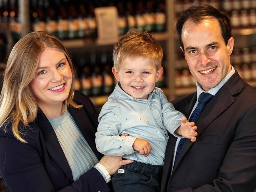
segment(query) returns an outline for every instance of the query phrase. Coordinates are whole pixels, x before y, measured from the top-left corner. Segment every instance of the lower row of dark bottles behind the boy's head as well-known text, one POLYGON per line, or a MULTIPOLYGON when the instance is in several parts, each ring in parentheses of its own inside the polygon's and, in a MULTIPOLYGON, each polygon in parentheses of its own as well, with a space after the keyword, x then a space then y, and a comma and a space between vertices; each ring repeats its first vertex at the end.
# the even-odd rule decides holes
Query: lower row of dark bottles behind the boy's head
MULTIPOLYGON (((75 89, 87 96, 109 95, 115 88, 115 80, 111 68, 113 60, 110 52, 82 52, 72 57, 76 66, 77 81, 75 89)), ((157 87, 165 87, 163 75, 157 87)))

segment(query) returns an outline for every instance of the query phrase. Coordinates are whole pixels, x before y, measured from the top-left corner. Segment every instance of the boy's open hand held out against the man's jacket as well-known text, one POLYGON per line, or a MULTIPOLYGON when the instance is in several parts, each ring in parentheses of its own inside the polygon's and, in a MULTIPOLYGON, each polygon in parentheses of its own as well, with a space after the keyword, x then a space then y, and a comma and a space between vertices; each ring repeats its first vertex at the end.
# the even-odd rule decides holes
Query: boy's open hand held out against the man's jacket
POLYGON ((183 137, 190 138, 192 142, 197 140, 197 126, 194 122, 188 122, 185 117, 182 117, 181 125, 176 129, 175 133, 182 135, 183 137))

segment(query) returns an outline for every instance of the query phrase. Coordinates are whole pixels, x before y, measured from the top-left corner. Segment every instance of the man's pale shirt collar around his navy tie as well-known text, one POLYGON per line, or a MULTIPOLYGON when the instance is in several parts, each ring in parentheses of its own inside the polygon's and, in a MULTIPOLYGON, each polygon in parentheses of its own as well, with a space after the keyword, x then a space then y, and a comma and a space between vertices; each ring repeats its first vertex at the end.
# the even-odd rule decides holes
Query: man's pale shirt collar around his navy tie
POLYGON ((231 66, 231 71, 222 79, 222 81, 217 85, 216 87, 213 87, 209 89, 208 91, 204 91, 201 87, 201 85, 197 82, 197 100, 199 95, 202 92, 207 92, 215 96, 215 94, 221 89, 221 87, 228 81, 228 79, 235 73, 235 69, 233 66, 231 66))

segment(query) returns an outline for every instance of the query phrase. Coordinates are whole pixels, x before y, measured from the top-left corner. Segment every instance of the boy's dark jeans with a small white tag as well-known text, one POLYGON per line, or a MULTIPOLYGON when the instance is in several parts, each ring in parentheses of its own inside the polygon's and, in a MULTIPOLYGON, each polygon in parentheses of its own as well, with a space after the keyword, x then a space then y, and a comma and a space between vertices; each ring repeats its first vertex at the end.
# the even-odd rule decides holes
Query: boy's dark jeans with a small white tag
POLYGON ((115 192, 158 192, 163 166, 134 161, 122 166, 112 177, 115 192))

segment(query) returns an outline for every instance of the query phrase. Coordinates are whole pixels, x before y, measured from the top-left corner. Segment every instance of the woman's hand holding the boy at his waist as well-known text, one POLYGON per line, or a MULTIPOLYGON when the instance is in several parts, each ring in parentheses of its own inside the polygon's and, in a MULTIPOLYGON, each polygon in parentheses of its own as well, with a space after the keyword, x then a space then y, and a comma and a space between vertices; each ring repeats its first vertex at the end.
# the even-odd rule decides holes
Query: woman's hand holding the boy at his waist
POLYGON ((113 174, 115 174, 115 172, 117 172, 117 170, 122 165, 130 164, 130 163, 134 162, 130 159, 122 160, 122 157, 124 157, 124 155, 122 155, 122 156, 104 155, 100 159, 99 163, 102 164, 108 170, 109 175, 113 175, 113 174))

